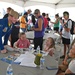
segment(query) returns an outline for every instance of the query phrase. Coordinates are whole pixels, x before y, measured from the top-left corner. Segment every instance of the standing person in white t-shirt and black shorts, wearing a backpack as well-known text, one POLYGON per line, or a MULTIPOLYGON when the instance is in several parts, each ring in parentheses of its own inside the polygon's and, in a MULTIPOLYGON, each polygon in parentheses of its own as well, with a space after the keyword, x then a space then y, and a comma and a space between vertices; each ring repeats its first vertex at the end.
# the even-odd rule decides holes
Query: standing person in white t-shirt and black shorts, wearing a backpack
POLYGON ((64 58, 66 55, 66 50, 67 48, 69 49, 69 45, 70 45, 70 30, 72 27, 72 21, 69 20, 69 13, 67 11, 65 11, 63 13, 63 17, 64 17, 64 23, 63 23, 63 30, 62 30, 62 43, 64 45, 64 55, 61 58, 64 58))

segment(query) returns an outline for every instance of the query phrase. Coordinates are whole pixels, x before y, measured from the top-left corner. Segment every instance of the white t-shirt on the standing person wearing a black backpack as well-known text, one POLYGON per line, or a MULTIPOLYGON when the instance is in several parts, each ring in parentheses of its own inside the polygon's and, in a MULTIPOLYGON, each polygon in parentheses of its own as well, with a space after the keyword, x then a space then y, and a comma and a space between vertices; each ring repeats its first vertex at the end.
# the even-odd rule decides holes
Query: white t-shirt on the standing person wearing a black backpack
MULTIPOLYGON (((68 21, 68 20, 67 20, 67 21, 68 21)), ((65 22, 67 22, 67 21, 65 21, 65 22)), ((70 28, 70 29, 71 29, 71 27, 72 27, 72 21, 69 20, 69 21, 68 21, 67 28, 70 28)), ((62 30, 62 37, 67 38, 67 39, 70 39, 70 36, 71 36, 70 31, 67 32, 67 31, 64 29, 64 27, 63 27, 63 30, 62 30)))

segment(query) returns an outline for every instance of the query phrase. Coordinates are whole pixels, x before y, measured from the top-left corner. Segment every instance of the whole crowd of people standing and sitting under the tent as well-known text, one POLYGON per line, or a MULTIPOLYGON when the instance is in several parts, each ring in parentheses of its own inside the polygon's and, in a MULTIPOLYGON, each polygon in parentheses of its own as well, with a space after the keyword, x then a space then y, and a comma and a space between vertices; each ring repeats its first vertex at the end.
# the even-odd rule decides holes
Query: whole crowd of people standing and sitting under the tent
MULTIPOLYGON (((49 22, 54 24, 53 30, 61 36, 62 44, 64 45, 64 54, 60 58, 64 58, 63 63, 59 66, 57 75, 65 75, 75 73, 75 43, 71 44, 71 33, 72 20, 69 19, 69 12, 63 12, 63 19, 59 17, 59 14, 55 14, 55 22, 52 22, 48 14, 42 13, 39 9, 35 9, 34 14, 31 13, 31 9, 19 18, 19 13, 14 11, 12 8, 7 8, 7 14, 0 19, 0 52, 6 53, 5 45, 8 45, 10 40, 10 46, 15 48, 29 48, 30 41, 26 38, 25 32, 34 31, 34 49, 40 47, 40 50, 49 52, 50 56, 53 56, 55 48, 55 41, 52 37, 46 39, 43 42, 43 37, 46 29, 50 29, 49 22), (28 18, 28 16, 30 16, 28 18), (19 26, 16 26, 16 25, 19 26), (30 28, 29 28, 30 27, 30 28), (18 30, 17 30, 18 29, 18 30), (2 40, 2 37, 3 40, 2 40), (69 54, 66 54, 69 50, 69 54), (67 63, 68 56, 73 58, 70 63, 67 63), (66 65, 65 72, 62 71, 62 66, 66 65)), ((50 34, 50 33, 49 33, 50 34)))

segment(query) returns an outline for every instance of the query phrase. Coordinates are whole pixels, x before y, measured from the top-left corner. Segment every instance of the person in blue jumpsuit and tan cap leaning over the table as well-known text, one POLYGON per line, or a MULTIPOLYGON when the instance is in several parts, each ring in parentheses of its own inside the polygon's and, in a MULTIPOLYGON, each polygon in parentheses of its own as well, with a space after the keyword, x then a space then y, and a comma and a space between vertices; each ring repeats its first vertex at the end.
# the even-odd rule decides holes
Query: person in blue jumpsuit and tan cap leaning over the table
POLYGON ((0 52, 6 53, 4 45, 7 45, 14 23, 17 22, 19 14, 13 9, 9 12, 8 18, 0 19, 0 52), (4 37, 2 41, 2 37, 4 37))

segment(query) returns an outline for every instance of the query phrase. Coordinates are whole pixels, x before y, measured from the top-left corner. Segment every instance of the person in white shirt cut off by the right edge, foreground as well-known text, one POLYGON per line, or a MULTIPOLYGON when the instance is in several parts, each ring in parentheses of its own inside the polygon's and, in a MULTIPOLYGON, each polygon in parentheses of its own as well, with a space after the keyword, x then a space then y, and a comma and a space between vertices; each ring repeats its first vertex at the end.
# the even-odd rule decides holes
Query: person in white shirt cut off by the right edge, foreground
POLYGON ((69 52, 69 56, 72 58, 65 72, 57 72, 57 75, 75 75, 75 43, 69 52), (72 74, 73 73, 73 74, 72 74))

